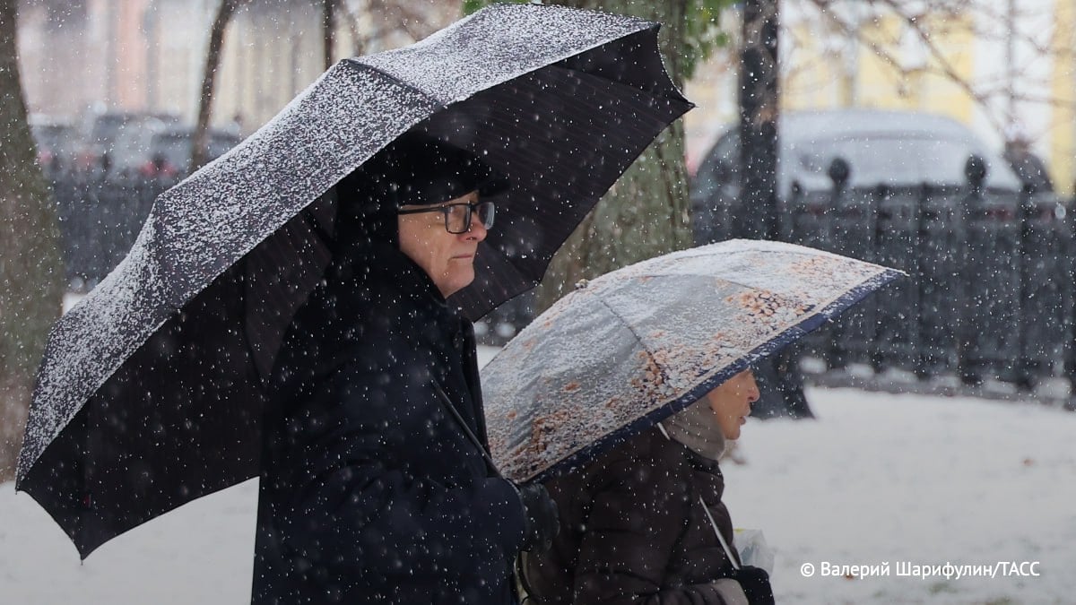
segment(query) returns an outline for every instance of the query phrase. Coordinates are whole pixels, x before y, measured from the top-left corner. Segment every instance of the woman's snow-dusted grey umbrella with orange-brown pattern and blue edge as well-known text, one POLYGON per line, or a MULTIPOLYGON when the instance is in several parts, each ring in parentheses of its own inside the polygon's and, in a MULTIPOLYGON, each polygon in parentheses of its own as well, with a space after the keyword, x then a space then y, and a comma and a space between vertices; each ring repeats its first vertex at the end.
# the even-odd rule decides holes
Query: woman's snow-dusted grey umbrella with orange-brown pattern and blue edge
POLYGON ((568 470, 898 275, 802 245, 731 240, 581 282, 482 369, 493 459, 521 482, 568 470))

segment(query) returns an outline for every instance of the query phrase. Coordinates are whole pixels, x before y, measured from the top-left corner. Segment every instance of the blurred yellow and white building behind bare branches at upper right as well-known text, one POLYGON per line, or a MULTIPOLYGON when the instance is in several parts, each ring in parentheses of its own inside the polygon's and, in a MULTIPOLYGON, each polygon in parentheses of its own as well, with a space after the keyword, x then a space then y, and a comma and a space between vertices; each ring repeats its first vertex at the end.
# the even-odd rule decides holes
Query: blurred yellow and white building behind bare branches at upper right
MULTIPOLYGON (((971 126, 996 149, 1021 137, 1059 191, 1076 180, 1076 3, 1072 0, 783 0, 785 110, 928 111, 971 126), (821 10, 824 6, 825 10, 821 10)), ((739 27, 730 12, 722 24, 739 27)), ((737 32, 731 31, 733 38, 737 32)), ((735 43, 686 86, 689 160, 738 119, 735 43)))

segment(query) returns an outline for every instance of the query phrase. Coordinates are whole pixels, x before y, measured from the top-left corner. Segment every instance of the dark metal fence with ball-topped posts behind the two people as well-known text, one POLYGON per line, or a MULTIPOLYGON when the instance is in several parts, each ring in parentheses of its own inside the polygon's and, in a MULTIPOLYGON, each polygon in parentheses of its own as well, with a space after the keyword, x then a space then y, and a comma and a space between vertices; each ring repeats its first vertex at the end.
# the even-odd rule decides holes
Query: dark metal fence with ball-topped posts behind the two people
MULTIPOLYGON (((134 242, 161 181, 54 182, 67 271, 93 287, 134 242)), ((710 237, 734 237, 734 209, 711 209, 710 237)), ((697 220, 697 217, 696 217, 697 220)), ((865 364, 965 384, 993 378, 1031 389, 1076 379, 1073 213, 1053 198, 974 187, 795 191, 779 209, 781 239, 906 271, 810 335, 827 368, 865 364)), ((502 344, 533 316, 521 297, 477 326, 502 344)))

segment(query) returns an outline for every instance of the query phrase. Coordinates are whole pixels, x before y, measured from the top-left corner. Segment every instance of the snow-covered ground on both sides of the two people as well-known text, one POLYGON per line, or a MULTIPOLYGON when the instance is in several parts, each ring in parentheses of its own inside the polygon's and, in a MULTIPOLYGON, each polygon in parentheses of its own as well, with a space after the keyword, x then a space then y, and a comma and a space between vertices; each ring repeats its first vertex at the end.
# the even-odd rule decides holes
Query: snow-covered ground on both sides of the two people
MULTIPOLYGON (((484 360, 491 350, 483 350, 484 360)), ((815 421, 751 421, 725 463, 738 527, 775 551, 778 603, 1073 603, 1076 414, 1032 404, 812 389, 815 421), (909 577, 989 565, 1038 577, 909 577), (1034 566, 1031 563, 1037 563, 1034 566), (821 576, 881 565, 889 576, 821 576), (802 567, 815 566, 805 577, 802 567), (903 567, 902 567, 903 565, 903 567)), ((29 496, 0 486, 0 602, 235 604, 250 599, 247 481, 115 538, 83 563, 29 496)))

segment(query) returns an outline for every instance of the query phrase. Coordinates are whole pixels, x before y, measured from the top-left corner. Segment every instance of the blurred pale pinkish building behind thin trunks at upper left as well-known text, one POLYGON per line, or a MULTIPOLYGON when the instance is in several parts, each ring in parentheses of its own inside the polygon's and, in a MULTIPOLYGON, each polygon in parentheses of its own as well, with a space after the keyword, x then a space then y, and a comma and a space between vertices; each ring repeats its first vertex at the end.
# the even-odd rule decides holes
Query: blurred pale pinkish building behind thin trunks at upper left
MULTIPOLYGON (((19 60, 29 109, 175 114, 193 123, 218 0, 23 0, 19 60)), ((335 57, 408 44, 459 16, 459 0, 345 0, 335 57), (376 5, 378 11, 370 13, 376 5)), ((228 27, 213 123, 245 135, 324 71, 322 2, 249 0, 228 27)))

